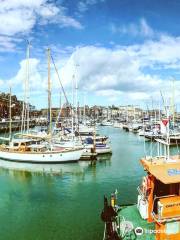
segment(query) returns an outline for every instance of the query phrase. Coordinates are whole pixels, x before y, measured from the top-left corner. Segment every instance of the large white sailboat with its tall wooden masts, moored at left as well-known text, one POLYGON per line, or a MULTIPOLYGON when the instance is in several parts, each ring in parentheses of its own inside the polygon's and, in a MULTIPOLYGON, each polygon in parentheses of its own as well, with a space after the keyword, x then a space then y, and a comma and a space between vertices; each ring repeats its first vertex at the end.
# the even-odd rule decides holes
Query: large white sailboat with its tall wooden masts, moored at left
MULTIPOLYGON (((40 136, 39 137, 32 136, 31 134, 29 134, 29 136, 25 136, 24 138, 23 135, 21 135, 20 138, 12 138, 10 124, 9 144, 0 145, 1 159, 8 161, 31 162, 31 163, 62 163, 62 162, 74 162, 80 159, 83 153, 83 148, 59 147, 54 145, 52 142, 50 49, 48 49, 48 107, 49 107, 48 114, 49 129, 46 140, 42 139, 40 136)), ((10 109, 11 109, 11 94, 10 94, 10 109)), ((28 116, 28 114, 26 116, 28 116)))

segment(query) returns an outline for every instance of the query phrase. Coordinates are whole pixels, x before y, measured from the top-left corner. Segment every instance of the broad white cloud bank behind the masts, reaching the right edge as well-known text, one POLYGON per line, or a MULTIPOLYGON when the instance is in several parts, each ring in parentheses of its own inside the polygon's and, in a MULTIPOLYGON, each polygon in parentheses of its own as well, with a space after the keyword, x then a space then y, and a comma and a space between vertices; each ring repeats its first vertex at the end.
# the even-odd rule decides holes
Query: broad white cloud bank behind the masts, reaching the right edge
MULTIPOLYGON (((85 46, 73 50, 70 47, 64 49, 64 52, 70 55, 64 54, 63 59, 62 54, 61 58, 56 56, 56 65, 65 89, 71 91, 72 76, 75 74, 80 91, 89 92, 92 97, 102 97, 104 102, 111 103, 132 103, 147 100, 151 96, 158 99, 160 90, 170 96, 172 77, 170 74, 165 75, 164 71, 168 69, 177 74, 180 66, 179 37, 161 36, 158 41, 115 46, 113 49, 85 46)), ((42 63, 38 59, 31 59, 30 66, 32 89, 45 92, 47 73, 39 72, 42 63)), ((11 81, 21 84, 24 71, 25 61, 21 62, 19 72, 11 81)), ((180 71, 179 75, 174 76, 177 80, 176 90, 180 90, 178 76, 180 77, 180 71)), ((53 89, 57 90, 60 85, 53 70, 52 82, 53 89)))

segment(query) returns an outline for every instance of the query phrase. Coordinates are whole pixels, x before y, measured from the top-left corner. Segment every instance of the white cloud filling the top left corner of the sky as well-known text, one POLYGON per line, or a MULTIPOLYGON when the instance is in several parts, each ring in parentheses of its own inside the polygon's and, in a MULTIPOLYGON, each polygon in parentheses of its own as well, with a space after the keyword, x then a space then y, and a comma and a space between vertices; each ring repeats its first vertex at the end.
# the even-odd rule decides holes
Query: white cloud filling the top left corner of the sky
POLYGON ((81 29, 82 25, 67 14, 67 9, 48 0, 0 0, 0 48, 13 50, 14 36, 30 33, 37 24, 58 24, 59 27, 81 29), (4 38, 9 45, 5 46, 4 38), (11 38, 10 38, 11 37, 11 38))

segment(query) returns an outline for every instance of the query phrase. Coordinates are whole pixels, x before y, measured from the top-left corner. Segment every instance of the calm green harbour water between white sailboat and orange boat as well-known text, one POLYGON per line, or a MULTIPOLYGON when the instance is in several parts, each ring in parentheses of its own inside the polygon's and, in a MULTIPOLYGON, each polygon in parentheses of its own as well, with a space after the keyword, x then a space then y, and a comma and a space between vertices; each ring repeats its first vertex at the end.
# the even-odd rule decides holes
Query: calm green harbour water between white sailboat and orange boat
POLYGON ((103 195, 117 189, 120 203, 136 202, 144 144, 120 129, 100 131, 113 155, 96 164, 53 166, 60 174, 0 170, 0 240, 102 240, 103 195))

